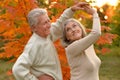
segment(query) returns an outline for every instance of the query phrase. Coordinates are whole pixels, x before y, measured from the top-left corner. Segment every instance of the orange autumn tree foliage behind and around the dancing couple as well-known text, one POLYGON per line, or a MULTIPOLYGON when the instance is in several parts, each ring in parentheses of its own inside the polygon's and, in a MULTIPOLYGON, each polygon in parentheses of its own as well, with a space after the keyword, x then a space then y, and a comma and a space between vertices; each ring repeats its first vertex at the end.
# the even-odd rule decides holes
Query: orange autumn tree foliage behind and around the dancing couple
MULTIPOLYGON (((22 53, 26 42, 32 34, 26 18, 27 13, 31 9, 35 7, 45 8, 48 11, 51 22, 54 22, 67 7, 72 6, 78 1, 85 0, 0 0, 0 59, 15 60, 22 53)), ((117 37, 115 34, 119 35, 119 6, 116 8, 117 12, 113 20, 104 19, 104 15, 108 14, 108 7, 102 7, 104 12, 101 12, 101 8, 96 7, 102 24, 102 36, 95 44, 99 53, 106 51, 104 47, 106 44, 112 44, 112 41, 117 37), (111 22, 112 26, 114 25, 112 28, 109 26, 111 22), (111 33, 112 29, 114 32, 111 33)), ((74 18, 86 27, 88 33, 91 31, 92 17, 90 15, 83 11, 77 11, 74 14, 74 18)), ((65 50, 59 40, 54 44, 61 61, 64 80, 69 80, 70 69, 65 50)))

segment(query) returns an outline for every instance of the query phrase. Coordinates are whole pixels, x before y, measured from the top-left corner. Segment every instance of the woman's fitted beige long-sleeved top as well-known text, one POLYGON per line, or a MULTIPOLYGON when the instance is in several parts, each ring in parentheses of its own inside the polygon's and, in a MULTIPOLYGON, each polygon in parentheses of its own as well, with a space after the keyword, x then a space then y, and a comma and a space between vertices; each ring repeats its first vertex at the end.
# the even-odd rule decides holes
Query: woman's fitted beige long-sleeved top
POLYGON ((97 57, 93 44, 101 34, 98 14, 93 14, 92 31, 84 38, 70 44, 66 56, 70 65, 70 80, 99 80, 101 60, 97 57))

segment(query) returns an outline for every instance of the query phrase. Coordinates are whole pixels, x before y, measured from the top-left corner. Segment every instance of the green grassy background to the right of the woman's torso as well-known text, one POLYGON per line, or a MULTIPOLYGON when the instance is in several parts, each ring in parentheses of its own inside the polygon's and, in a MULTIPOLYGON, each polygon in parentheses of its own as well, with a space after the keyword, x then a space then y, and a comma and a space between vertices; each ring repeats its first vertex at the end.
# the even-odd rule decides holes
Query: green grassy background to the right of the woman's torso
POLYGON ((99 54, 102 64, 100 67, 100 80, 120 80, 120 48, 111 48, 109 53, 99 54))

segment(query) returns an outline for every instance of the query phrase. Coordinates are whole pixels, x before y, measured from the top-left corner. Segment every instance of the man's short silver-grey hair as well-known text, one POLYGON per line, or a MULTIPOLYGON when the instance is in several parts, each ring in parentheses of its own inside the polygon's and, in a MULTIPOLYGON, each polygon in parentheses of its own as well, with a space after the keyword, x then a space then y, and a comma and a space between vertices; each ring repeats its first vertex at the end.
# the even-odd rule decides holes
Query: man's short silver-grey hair
POLYGON ((47 14, 46 9, 34 8, 33 10, 31 10, 27 15, 27 19, 30 27, 38 23, 38 20, 37 20, 38 16, 45 15, 45 14, 47 14))

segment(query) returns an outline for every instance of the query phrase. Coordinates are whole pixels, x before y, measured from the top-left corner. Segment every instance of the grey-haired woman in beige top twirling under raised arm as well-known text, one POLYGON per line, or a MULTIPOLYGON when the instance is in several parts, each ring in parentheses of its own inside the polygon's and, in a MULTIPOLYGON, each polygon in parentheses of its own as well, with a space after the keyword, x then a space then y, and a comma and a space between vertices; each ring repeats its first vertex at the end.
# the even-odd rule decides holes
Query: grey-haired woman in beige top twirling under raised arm
POLYGON ((101 35, 97 12, 90 6, 84 10, 93 16, 92 31, 86 35, 83 25, 75 20, 64 22, 63 45, 70 66, 71 80, 99 80, 101 60, 97 57, 93 44, 101 35))

